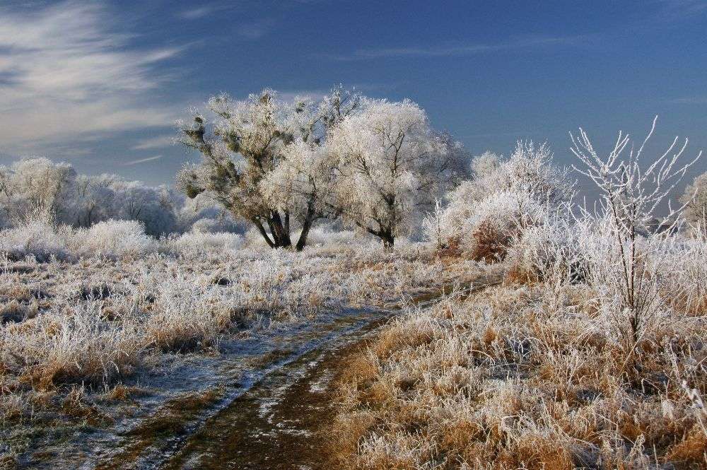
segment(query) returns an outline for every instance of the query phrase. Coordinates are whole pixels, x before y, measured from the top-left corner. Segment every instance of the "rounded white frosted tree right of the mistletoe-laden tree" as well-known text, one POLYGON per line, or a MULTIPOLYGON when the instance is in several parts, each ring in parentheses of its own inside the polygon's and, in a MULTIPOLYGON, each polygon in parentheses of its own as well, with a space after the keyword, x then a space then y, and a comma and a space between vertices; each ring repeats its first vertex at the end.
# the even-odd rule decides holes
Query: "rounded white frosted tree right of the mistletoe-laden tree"
POLYGON ((414 102, 363 100, 332 129, 335 200, 350 226, 391 249, 462 173, 462 149, 434 132, 414 102))

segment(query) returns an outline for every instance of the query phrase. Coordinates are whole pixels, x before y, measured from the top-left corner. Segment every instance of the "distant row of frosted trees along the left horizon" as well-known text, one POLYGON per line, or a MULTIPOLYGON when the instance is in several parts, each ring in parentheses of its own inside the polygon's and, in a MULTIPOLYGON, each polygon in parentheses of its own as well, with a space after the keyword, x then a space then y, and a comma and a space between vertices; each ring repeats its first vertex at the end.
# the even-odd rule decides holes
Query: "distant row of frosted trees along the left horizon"
POLYGON ((187 231, 201 218, 218 220, 211 230, 241 230, 233 218, 219 213, 216 201, 185 200, 165 186, 149 187, 116 175, 79 175, 71 165, 47 158, 0 167, 0 228, 37 221, 90 228, 114 219, 137 221, 148 235, 157 237, 187 231))

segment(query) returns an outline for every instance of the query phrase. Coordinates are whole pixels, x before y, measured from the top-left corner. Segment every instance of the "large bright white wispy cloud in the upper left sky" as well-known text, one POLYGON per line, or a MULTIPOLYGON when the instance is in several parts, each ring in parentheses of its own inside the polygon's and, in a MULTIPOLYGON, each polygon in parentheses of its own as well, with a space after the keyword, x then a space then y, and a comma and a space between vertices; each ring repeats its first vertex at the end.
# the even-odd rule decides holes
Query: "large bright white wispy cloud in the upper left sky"
POLYGON ((105 132, 169 126, 175 110, 151 98, 160 62, 180 47, 139 49, 94 2, 0 7, 0 146, 25 153, 105 132))

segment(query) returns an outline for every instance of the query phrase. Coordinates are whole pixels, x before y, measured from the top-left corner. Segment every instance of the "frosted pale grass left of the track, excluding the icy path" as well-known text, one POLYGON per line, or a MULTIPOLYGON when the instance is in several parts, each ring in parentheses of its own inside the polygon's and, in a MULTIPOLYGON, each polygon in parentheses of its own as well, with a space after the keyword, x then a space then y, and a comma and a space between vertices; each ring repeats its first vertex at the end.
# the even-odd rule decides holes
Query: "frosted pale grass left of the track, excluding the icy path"
POLYGON ((299 253, 233 233, 155 240, 134 222, 0 235, 0 418, 73 384, 129 382, 164 353, 208 353, 224 335, 382 305, 454 277, 423 245, 390 254, 328 229, 299 253))

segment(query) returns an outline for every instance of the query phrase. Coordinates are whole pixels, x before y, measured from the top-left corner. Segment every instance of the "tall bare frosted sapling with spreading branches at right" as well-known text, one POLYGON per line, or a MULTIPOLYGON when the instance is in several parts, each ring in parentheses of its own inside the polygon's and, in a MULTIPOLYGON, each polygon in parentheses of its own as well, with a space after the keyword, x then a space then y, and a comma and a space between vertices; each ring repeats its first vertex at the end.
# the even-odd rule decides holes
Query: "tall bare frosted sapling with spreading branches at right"
POLYGON ((679 223, 679 211, 669 206, 668 213, 658 218, 658 226, 667 225, 668 230, 648 237, 642 234, 653 222, 656 208, 701 156, 699 153, 691 162, 678 165, 687 140, 679 146, 675 137, 664 153, 646 165, 643 149, 657 119, 653 119, 641 146, 634 146, 629 136, 619 131, 614 148, 604 157, 595 151, 583 129, 577 137, 572 136, 571 150, 583 163, 579 171, 600 192, 597 213, 585 211, 585 225, 595 236, 585 237, 583 249, 592 260, 591 276, 600 291, 600 301, 612 317, 628 356, 660 316, 661 279, 679 269, 667 257, 674 244, 670 233, 679 223))

